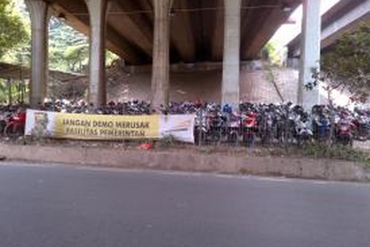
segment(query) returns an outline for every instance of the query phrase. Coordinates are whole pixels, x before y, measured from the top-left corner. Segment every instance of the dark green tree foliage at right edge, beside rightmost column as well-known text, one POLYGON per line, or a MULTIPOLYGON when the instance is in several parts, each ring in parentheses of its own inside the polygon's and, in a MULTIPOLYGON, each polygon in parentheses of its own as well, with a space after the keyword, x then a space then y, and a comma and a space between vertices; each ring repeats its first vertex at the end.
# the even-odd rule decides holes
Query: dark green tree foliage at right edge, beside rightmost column
POLYGON ((324 81, 327 90, 346 90, 351 100, 366 101, 370 90, 370 25, 341 37, 320 64, 322 72, 319 75, 313 70, 313 77, 324 81))

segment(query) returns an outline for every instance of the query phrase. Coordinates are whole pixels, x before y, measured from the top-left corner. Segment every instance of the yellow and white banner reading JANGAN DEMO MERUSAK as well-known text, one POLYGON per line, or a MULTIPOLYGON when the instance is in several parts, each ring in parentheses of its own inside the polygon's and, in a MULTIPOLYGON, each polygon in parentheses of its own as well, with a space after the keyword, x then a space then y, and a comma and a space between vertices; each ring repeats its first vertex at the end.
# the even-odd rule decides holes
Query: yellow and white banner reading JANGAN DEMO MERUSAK
POLYGON ((158 139, 194 143, 194 115, 114 116, 27 110, 27 136, 81 140, 158 139))

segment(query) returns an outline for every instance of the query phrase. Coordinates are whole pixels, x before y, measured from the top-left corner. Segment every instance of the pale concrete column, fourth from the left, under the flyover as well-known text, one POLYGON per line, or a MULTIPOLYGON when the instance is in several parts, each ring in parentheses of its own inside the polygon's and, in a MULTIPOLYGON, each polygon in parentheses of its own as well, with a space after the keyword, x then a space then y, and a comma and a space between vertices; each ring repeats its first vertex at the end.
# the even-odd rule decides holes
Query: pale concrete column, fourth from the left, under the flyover
POLYGON ((222 104, 239 106, 240 7, 241 0, 224 0, 225 31, 223 44, 222 104))

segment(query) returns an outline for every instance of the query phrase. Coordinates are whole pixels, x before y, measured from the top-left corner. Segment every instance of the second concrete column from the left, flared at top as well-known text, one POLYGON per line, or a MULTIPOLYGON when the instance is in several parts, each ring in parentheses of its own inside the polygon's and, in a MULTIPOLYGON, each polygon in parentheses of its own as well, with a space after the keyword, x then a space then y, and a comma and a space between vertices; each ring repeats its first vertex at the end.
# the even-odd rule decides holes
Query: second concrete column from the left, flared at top
POLYGON ((107 101, 105 84, 105 33, 108 0, 85 0, 90 15, 88 101, 102 106, 107 101))

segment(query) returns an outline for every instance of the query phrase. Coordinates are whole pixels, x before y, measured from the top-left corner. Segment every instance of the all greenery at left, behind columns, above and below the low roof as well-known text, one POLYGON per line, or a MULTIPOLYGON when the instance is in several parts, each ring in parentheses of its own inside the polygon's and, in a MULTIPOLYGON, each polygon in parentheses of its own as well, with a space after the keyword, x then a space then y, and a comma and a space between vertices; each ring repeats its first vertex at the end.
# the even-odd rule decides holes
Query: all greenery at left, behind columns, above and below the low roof
MULTIPOLYGON (((87 73, 89 44, 88 38, 68 26, 63 20, 51 17, 49 22, 48 53, 49 69, 74 73, 87 73)), ((13 64, 31 64, 30 15, 24 0, 0 0, 0 59, 13 64), (6 20, 5 20, 6 19, 6 20)), ((107 51, 107 65, 118 59, 107 51)), ((48 94, 55 97, 82 97, 85 81, 60 82, 50 75, 48 94)), ((13 99, 20 96, 14 82, 11 89, 13 99)), ((26 91, 25 93, 28 93, 26 91)), ((0 79, 0 103, 8 99, 7 80, 0 79)), ((24 96, 27 99, 27 96, 24 96)))

